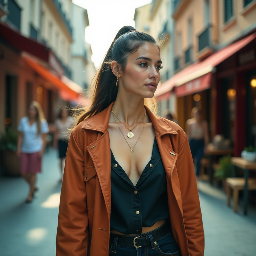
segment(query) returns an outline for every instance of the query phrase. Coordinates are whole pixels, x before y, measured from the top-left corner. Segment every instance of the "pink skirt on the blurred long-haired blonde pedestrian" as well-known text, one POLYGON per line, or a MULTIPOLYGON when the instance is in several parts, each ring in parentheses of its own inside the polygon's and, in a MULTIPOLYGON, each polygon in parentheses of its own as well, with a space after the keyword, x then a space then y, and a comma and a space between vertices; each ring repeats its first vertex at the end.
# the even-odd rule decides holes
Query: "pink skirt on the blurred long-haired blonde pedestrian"
POLYGON ((42 171, 42 157, 39 157, 39 152, 21 153, 20 156, 20 172, 37 173, 42 171))

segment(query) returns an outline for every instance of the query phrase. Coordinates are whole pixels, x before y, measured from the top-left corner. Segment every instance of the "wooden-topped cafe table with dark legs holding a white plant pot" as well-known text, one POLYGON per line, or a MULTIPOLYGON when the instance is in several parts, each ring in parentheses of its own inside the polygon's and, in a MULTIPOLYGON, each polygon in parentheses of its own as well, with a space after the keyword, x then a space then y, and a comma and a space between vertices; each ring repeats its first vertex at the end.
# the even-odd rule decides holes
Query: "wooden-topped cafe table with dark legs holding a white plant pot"
POLYGON ((247 214, 248 209, 248 179, 249 179, 249 170, 256 170, 256 162, 248 162, 242 157, 231 157, 231 164, 233 165, 232 176, 236 175, 236 167, 240 167, 244 171, 244 215, 247 214))

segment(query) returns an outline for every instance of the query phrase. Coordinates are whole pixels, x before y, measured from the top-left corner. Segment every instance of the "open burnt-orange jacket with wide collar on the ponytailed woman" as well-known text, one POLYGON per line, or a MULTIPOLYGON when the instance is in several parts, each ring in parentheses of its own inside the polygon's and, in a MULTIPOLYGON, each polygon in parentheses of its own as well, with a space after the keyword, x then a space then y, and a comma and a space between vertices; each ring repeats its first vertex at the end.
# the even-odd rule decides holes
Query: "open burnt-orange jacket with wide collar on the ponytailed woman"
MULTIPOLYGON (((108 255, 108 119, 112 105, 78 124, 71 134, 60 196, 57 256, 108 255)), ((177 124, 146 110, 155 128, 166 172, 173 236, 182 256, 203 256, 203 222, 187 136, 177 124)))

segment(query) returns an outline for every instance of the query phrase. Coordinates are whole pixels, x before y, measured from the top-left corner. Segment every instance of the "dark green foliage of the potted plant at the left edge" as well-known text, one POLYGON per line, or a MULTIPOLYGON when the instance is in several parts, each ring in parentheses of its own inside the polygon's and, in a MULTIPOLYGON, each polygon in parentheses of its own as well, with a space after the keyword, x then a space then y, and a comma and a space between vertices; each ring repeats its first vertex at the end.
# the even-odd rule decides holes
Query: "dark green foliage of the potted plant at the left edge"
POLYGON ((17 150, 18 132, 9 128, 5 133, 0 134, 0 150, 17 150))

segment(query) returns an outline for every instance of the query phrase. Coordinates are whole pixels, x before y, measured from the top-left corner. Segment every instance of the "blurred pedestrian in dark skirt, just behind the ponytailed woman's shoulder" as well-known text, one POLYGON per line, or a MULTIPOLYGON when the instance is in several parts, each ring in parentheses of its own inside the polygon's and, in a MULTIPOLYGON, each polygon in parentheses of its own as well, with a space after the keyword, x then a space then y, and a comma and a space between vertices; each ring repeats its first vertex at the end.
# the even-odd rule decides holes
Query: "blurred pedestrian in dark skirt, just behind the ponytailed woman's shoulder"
POLYGON ((67 154, 69 132, 75 124, 75 119, 70 116, 70 113, 70 109, 60 108, 59 115, 54 122, 53 147, 58 148, 59 151, 60 182, 63 177, 63 161, 67 154))

